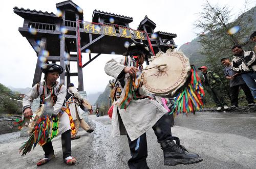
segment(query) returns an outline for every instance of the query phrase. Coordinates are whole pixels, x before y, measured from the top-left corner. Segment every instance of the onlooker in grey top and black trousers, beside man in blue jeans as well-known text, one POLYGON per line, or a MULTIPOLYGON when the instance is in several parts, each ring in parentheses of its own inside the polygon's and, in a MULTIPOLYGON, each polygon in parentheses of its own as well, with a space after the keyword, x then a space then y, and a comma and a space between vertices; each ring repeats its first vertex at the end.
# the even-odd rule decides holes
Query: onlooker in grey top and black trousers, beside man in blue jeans
POLYGON ((246 100, 248 101, 248 106, 253 106, 253 96, 251 91, 244 82, 240 73, 237 73, 231 69, 231 62, 228 58, 222 58, 221 63, 226 67, 223 69, 225 78, 229 79, 230 83, 230 96, 231 96, 231 108, 238 107, 238 94, 239 87, 241 87, 245 93, 246 100))

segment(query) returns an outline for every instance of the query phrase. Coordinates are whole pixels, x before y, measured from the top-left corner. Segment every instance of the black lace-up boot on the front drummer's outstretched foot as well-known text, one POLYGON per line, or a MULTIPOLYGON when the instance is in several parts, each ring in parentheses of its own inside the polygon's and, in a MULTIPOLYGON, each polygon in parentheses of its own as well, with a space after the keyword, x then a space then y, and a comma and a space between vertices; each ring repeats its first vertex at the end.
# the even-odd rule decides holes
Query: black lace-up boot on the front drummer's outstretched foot
POLYGON ((161 143, 164 165, 193 164, 203 160, 198 154, 189 154, 185 147, 180 145, 178 137, 172 138, 176 143, 173 140, 165 140, 161 143))

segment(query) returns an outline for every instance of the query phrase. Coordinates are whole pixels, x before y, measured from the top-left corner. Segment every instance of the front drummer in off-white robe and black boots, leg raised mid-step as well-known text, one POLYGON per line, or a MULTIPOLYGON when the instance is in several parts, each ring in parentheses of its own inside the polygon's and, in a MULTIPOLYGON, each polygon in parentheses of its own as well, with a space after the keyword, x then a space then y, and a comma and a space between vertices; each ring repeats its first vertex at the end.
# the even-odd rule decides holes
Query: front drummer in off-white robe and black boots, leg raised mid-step
MULTIPOLYGON (((117 79, 114 90, 115 101, 124 92, 123 87, 130 75, 135 75, 149 50, 147 45, 139 42, 131 43, 124 56, 112 59, 105 64, 106 74, 117 79), (121 92, 118 92, 121 91, 121 92)), ((135 89, 137 100, 132 100, 126 109, 113 108, 111 135, 120 136, 127 133, 132 158, 128 161, 130 168, 148 168, 146 163, 147 145, 145 132, 153 128, 158 143, 164 152, 164 165, 189 164, 202 161, 198 154, 189 154, 180 145, 179 138, 172 136, 167 110, 148 96, 148 92, 140 85, 135 89), (176 143, 173 141, 175 140, 176 143)))

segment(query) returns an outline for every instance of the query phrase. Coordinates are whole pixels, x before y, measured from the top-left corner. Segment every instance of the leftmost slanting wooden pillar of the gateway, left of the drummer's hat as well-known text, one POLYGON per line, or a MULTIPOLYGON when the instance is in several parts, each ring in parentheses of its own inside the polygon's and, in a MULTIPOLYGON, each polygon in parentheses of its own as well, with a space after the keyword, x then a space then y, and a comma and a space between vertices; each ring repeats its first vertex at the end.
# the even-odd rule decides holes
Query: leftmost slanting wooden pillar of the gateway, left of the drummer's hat
POLYGON ((46 37, 43 37, 41 39, 41 43, 40 43, 40 50, 39 50, 39 54, 37 56, 37 62, 36 62, 36 67, 35 67, 35 74, 34 74, 34 79, 33 79, 33 85, 32 87, 36 84, 39 83, 41 81, 41 76, 42 76, 42 70, 41 70, 41 66, 42 66, 42 62, 40 61, 40 57, 42 55, 42 52, 46 49, 46 37))

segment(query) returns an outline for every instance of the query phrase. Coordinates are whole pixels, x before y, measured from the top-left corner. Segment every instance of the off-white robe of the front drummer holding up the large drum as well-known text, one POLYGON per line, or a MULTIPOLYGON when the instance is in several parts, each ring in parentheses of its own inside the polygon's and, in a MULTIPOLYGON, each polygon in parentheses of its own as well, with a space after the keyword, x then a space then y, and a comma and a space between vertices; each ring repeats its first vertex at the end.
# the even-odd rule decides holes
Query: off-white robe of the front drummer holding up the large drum
MULTIPOLYGON (((119 76, 122 75, 122 71, 126 67, 124 62, 125 57, 110 60, 105 64, 106 74, 116 79, 120 78, 119 76)), ((147 91, 143 86, 139 89, 139 92, 140 95, 151 95, 151 93, 147 91)), ((111 136, 121 135, 120 123, 122 121, 126 132, 132 141, 145 133, 148 129, 152 128, 156 122, 167 112, 167 110, 160 103, 148 98, 132 100, 126 110, 118 108, 118 111, 121 119, 118 118, 117 107, 114 106, 111 136)))

